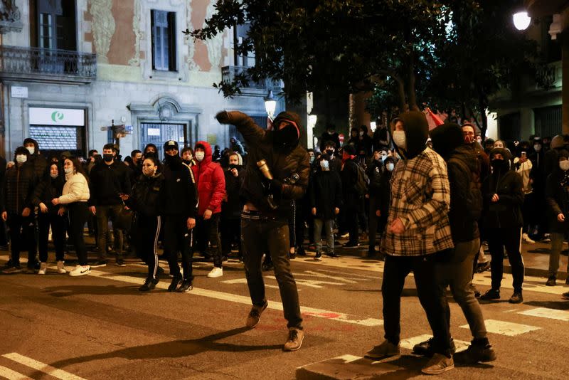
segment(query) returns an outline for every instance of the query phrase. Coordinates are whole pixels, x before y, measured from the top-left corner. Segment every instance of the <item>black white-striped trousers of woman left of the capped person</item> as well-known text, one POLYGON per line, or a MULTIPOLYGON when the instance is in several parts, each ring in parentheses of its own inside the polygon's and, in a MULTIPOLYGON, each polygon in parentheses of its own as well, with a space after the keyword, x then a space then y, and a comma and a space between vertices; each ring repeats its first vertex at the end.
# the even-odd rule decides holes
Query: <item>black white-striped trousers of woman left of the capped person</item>
POLYGON ((156 279, 158 271, 158 238, 160 236, 161 216, 137 214, 132 228, 132 241, 137 256, 148 265, 148 278, 156 279))

